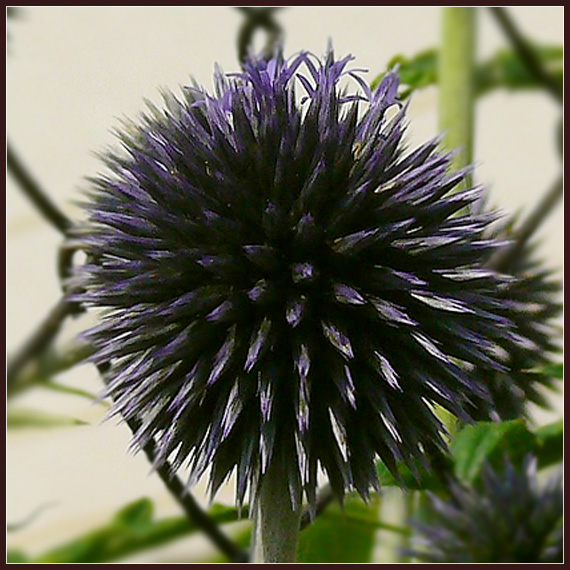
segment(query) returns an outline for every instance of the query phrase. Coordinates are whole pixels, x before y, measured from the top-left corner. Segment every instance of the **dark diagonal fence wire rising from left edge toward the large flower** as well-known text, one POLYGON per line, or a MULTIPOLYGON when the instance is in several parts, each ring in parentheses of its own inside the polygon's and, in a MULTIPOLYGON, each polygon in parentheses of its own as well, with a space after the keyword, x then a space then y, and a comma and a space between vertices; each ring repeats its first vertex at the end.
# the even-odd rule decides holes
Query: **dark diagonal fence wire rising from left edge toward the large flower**
POLYGON ((70 303, 65 298, 58 301, 55 307, 51 309, 47 317, 39 324, 20 350, 8 360, 6 367, 6 385, 8 389, 17 381, 26 364, 47 348, 58 333, 66 317, 76 311, 77 304, 70 303))

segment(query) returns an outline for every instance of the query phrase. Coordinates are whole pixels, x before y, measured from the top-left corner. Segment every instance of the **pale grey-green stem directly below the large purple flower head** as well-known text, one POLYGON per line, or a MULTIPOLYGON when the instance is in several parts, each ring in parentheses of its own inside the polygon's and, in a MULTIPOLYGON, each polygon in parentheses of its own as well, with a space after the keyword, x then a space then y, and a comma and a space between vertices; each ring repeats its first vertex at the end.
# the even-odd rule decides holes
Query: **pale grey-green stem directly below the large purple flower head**
POLYGON ((261 482, 254 518, 254 563, 291 563, 297 555, 301 508, 294 508, 284 476, 273 463, 261 482))

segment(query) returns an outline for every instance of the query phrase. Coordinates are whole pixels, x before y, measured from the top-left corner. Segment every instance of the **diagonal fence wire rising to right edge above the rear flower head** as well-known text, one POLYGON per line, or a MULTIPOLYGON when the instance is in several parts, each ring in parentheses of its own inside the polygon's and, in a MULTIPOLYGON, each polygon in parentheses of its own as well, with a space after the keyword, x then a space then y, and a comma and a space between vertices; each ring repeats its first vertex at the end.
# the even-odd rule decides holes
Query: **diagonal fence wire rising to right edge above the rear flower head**
POLYGON ((513 243, 498 251, 489 261, 488 266, 492 269, 504 270, 511 261, 516 259, 528 240, 534 235, 546 217, 552 212, 564 194, 562 176, 544 194, 534 210, 515 232, 513 243))

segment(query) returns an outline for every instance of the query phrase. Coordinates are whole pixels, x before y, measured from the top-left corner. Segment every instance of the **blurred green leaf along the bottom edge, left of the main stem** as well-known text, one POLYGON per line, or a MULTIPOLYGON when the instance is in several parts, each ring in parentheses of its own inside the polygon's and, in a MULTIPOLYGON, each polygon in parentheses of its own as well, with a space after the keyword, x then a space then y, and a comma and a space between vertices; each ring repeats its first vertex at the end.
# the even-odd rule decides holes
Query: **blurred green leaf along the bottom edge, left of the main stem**
MULTIPOLYGON (((152 502, 143 498, 120 509, 109 524, 34 557, 34 563, 103 563, 165 544, 199 529, 186 517, 155 520, 152 502)), ((214 505, 209 511, 218 524, 238 520, 237 509, 214 505)), ((21 553, 20 553, 21 554, 21 553)), ((21 554, 25 557, 25 554, 21 554)))

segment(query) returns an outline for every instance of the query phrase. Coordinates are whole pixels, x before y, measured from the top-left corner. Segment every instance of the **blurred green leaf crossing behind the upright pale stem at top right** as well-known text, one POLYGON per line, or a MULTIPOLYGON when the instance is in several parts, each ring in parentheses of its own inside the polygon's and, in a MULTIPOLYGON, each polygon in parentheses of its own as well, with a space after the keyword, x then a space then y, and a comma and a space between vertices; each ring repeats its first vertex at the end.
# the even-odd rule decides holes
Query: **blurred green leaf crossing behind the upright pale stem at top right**
MULTIPOLYGON (((535 52, 546 70, 556 81, 562 83, 564 50, 561 46, 535 46, 535 52)), ((438 81, 438 53, 431 49, 408 58, 397 55, 388 62, 388 69, 398 66, 402 81, 401 98, 406 99, 416 89, 429 87, 438 81)), ((374 89, 385 73, 372 81, 374 89)), ((536 89, 541 85, 521 63, 518 55, 510 49, 502 49, 493 57, 480 63, 475 71, 477 95, 485 95, 495 89, 536 89)))

